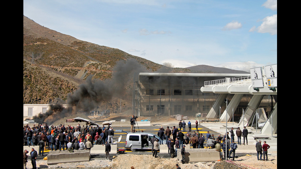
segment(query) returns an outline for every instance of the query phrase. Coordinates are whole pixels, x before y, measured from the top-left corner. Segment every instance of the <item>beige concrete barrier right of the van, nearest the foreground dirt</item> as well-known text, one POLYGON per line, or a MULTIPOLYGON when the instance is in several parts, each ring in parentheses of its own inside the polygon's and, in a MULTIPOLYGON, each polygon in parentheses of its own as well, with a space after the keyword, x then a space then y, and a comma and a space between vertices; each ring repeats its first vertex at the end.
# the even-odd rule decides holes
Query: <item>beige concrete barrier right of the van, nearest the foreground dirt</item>
MULTIPOLYGON (((216 149, 207 149, 207 148, 185 148, 185 157, 184 163, 192 162, 210 162, 220 160, 220 152, 216 149)), ((177 153, 178 160, 182 159, 181 150, 178 149, 177 153)))

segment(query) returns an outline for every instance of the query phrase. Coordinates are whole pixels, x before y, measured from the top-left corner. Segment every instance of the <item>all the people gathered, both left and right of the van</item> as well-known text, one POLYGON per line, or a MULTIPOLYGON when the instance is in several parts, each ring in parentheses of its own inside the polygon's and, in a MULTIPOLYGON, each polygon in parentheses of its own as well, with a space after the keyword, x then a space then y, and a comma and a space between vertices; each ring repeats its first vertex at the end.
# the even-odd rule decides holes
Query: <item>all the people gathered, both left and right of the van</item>
MULTIPOLYGON (((134 126, 134 117, 131 118, 131 131, 133 130, 134 126)), ((195 122, 196 129, 198 122, 195 122)), ((214 137, 214 134, 210 134, 209 131, 204 136, 202 133, 199 133, 199 130, 193 131, 191 130, 191 122, 188 122, 188 130, 187 133, 182 133, 183 131, 186 132, 186 122, 182 120, 179 122, 179 129, 176 126, 173 126, 172 129, 169 126, 164 129, 163 127, 159 128, 158 137, 157 139, 155 136, 150 140, 153 144, 152 146, 152 153, 153 156, 157 157, 157 152, 159 150, 159 144, 163 144, 163 138, 166 139, 166 144, 168 147, 168 153, 170 154, 171 158, 177 156, 177 151, 180 149, 182 160, 181 162, 184 163, 185 160, 185 147, 186 145, 190 145, 193 148, 204 148, 204 143, 206 142, 207 148, 216 148, 217 151, 220 152, 221 158, 223 159, 230 159, 231 154, 233 153, 233 160, 235 159, 235 150, 237 145, 241 145, 241 136, 243 136, 243 144, 248 144, 248 130, 244 126, 243 131, 240 130, 240 127, 236 130, 237 136, 237 144, 234 141, 234 131, 233 127, 229 132, 225 133, 224 136, 220 134, 217 138, 214 137), (231 143, 231 144, 230 144, 231 143), (231 150, 229 151, 229 149, 231 150), (223 154, 221 152, 223 150, 223 154), (227 151, 226 151, 227 150, 227 151), (227 153, 227 154, 226 154, 227 153)), ((103 126, 80 126, 77 124, 76 127, 74 126, 65 126, 65 125, 58 125, 58 126, 48 126, 47 124, 40 124, 40 125, 33 125, 33 127, 29 127, 28 125, 24 126, 23 130, 23 145, 25 146, 38 146, 38 152, 32 148, 30 152, 31 155, 31 162, 33 164, 33 168, 35 168, 35 159, 38 155, 44 156, 44 151, 48 146, 48 149, 51 151, 69 151, 73 152, 73 150, 83 150, 83 149, 91 149, 92 144, 106 144, 106 159, 107 157, 110 159, 110 145, 109 143, 113 143, 113 136, 114 130, 110 125, 106 128, 103 126)), ((257 151, 257 159, 262 160, 262 155, 264 155, 264 160, 268 160, 267 150, 270 148, 266 141, 261 146, 261 141, 256 144, 256 151, 257 151), (260 154, 260 158, 259 158, 260 154), (266 157, 266 158, 265 158, 266 157)), ((27 162, 26 153, 27 150, 23 153, 23 166, 27 162)))

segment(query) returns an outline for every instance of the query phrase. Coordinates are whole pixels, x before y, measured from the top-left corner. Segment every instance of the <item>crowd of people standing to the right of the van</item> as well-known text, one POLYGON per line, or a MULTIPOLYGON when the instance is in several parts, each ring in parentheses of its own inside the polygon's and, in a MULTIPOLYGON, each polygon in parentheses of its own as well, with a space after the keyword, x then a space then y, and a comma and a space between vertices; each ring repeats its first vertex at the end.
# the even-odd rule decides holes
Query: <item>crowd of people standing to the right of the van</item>
MULTIPOLYGON (((169 129, 169 126, 164 129, 163 127, 159 128, 158 131, 158 137, 159 139, 153 138, 151 140, 152 143, 154 144, 163 144, 163 138, 166 139, 166 144, 168 147, 168 153, 170 154, 170 157, 173 158, 174 156, 177 156, 177 151, 180 149, 181 155, 182 155, 182 160, 181 162, 184 162, 185 159, 185 147, 186 145, 192 146, 193 148, 204 148, 204 144, 206 148, 216 148, 217 151, 220 152, 220 157, 222 159, 230 159, 233 158, 232 160, 235 160, 235 151, 237 149, 237 145, 241 144, 247 144, 248 145, 248 129, 244 126, 243 131, 240 130, 240 127, 236 130, 236 136, 237 136, 237 144, 235 143, 235 134, 233 131, 233 127, 230 130, 230 136, 229 132, 225 133, 224 136, 221 136, 219 134, 216 138, 214 137, 214 134, 210 134, 209 131, 206 133, 206 135, 203 135, 202 133, 199 133, 199 130, 197 129, 198 126, 198 121, 195 122, 195 127, 197 131, 191 130, 191 122, 188 122, 188 131, 186 134, 182 133, 185 131, 186 128, 186 122, 183 120, 179 121, 179 128, 176 126, 173 126, 172 129, 169 129), (243 143, 241 143, 241 136, 243 136, 243 143), (229 151, 229 149, 231 150, 229 151), (221 151, 222 150, 222 151, 221 151), (233 153, 233 156, 231 157, 231 154, 233 153)), ((264 141, 264 145, 261 146, 261 141, 259 141, 256 144, 256 150, 257 150, 257 159, 262 160, 262 154, 264 155, 264 159, 266 156, 265 160, 268 160, 268 155, 267 155, 267 149, 270 148, 268 144, 266 144, 266 141, 264 141), (260 154, 260 158, 259 158, 260 154)), ((152 152, 154 155, 156 155, 155 151, 158 146, 153 145, 152 152), (153 151, 154 149, 154 151, 153 151)))

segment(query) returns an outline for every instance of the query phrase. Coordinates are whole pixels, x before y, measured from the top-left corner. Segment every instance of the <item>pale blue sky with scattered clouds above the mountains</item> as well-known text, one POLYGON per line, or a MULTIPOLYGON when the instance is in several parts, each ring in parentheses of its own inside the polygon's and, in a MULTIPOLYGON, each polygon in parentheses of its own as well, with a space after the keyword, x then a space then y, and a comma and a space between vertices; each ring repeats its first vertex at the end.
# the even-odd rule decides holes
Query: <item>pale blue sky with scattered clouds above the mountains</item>
POLYGON ((23 15, 169 67, 277 64, 277 0, 23 0, 23 15))

